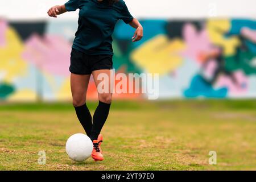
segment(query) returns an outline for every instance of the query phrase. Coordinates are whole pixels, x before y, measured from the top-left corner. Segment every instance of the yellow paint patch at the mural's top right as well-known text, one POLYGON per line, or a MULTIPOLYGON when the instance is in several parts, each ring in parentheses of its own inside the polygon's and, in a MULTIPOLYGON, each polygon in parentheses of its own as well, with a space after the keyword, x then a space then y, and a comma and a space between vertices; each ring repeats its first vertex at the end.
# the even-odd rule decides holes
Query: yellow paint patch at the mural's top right
POLYGON ((210 42, 224 48, 224 55, 230 56, 236 53, 236 47, 240 45, 240 40, 233 36, 226 38, 225 34, 231 28, 228 19, 209 19, 207 21, 207 31, 210 42))

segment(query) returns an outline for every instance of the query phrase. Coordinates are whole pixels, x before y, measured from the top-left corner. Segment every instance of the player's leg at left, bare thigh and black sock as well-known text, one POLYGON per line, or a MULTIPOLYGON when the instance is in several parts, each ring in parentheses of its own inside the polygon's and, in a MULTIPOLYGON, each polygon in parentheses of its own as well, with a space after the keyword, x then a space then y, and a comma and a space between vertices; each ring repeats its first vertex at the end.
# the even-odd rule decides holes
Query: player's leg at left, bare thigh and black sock
POLYGON ((84 127, 88 136, 92 131, 92 116, 86 106, 86 92, 90 80, 90 75, 76 75, 71 73, 71 92, 73 106, 75 107, 77 118, 84 127))

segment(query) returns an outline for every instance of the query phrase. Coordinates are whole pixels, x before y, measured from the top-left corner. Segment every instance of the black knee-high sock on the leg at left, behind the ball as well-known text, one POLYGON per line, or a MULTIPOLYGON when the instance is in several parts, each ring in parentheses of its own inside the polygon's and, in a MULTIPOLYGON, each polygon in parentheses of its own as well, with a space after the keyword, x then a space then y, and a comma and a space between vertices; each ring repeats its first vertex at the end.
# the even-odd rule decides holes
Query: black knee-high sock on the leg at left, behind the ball
POLYGON ((82 127, 84 127, 84 130, 88 137, 90 137, 90 132, 92 131, 92 115, 90 115, 90 111, 86 104, 75 107, 77 118, 79 119, 82 127))

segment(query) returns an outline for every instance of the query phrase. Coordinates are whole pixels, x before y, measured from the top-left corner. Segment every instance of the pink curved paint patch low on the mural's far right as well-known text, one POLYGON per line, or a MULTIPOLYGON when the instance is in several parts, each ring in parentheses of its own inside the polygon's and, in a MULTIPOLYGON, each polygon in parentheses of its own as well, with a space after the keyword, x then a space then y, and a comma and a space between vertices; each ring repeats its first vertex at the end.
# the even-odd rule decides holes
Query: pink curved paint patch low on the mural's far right
POLYGON ((221 75, 218 78, 217 87, 226 87, 229 89, 229 93, 235 96, 242 95, 247 92, 248 89, 248 79, 243 73, 243 71, 234 72, 234 77, 237 80, 237 84, 232 81, 232 79, 228 76, 221 75))

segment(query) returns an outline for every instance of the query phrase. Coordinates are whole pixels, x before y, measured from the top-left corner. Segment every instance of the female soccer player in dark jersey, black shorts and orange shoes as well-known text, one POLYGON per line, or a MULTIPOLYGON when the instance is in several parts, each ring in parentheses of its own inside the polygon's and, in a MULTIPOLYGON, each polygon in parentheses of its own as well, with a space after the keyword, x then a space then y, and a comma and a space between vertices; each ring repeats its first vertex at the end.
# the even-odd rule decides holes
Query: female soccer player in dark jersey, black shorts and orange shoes
POLYGON ((143 27, 131 16, 123 0, 70 0, 64 5, 51 7, 48 15, 56 18, 57 15, 77 9, 80 10, 79 27, 73 42, 69 67, 71 92, 77 117, 93 142, 92 158, 97 161, 104 159, 100 148, 100 132, 109 115, 112 93, 110 81, 108 93, 98 90, 99 104, 92 118, 86 106, 90 75, 93 75, 97 89, 101 82, 97 79, 98 75, 105 73, 110 78, 110 69, 113 67, 112 34, 119 19, 136 28, 133 42, 142 39, 143 27))

